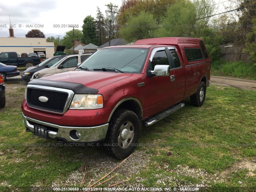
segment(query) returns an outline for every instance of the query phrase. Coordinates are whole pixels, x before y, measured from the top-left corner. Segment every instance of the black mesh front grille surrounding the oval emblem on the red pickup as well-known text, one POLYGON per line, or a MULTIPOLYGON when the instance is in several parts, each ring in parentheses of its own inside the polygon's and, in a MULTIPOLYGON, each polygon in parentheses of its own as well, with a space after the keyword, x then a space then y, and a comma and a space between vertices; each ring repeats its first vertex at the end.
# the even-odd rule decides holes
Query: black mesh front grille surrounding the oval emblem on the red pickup
POLYGON ((66 92, 42 90, 36 88, 28 88, 26 95, 28 106, 58 113, 63 112, 68 99, 68 93, 66 92), (41 102, 39 100, 40 96, 47 97, 48 101, 41 102))

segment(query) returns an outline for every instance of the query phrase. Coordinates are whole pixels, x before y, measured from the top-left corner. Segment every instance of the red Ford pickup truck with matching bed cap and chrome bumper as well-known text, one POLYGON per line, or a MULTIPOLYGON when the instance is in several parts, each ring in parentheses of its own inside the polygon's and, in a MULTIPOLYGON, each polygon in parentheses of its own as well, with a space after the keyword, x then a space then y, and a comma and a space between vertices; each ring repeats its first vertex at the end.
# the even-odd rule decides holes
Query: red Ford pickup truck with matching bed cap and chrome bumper
POLYGON ((27 132, 60 142, 102 142, 130 155, 140 128, 182 108, 202 106, 210 85, 202 39, 153 38, 96 51, 75 71, 28 83, 22 102, 27 132))

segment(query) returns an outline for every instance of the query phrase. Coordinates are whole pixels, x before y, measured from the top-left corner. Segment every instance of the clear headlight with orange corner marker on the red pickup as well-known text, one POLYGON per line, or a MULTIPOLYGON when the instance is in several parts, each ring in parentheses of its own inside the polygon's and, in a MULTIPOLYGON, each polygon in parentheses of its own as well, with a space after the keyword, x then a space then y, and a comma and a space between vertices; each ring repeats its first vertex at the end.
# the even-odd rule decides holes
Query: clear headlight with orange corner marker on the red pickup
POLYGON ((99 109, 103 108, 103 96, 100 94, 75 94, 70 109, 99 109))

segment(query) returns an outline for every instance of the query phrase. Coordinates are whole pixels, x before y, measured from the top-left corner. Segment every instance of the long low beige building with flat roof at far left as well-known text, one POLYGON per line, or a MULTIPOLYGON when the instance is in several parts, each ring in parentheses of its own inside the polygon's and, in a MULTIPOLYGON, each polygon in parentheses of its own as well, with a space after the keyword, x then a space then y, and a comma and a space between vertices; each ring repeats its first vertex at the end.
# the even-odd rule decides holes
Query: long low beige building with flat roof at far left
POLYGON ((46 42, 46 38, 0 37, 0 52, 37 53, 44 52, 46 58, 54 54, 54 43, 46 42))

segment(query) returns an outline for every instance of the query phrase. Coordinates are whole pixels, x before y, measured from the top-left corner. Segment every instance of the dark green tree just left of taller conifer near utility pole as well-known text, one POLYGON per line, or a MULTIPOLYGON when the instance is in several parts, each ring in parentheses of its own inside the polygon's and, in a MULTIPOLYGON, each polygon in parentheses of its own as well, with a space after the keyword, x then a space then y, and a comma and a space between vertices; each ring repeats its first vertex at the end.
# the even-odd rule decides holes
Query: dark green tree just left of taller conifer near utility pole
POLYGON ((99 38, 96 35, 96 21, 89 15, 84 18, 84 24, 82 26, 83 38, 82 43, 84 44, 95 44, 99 45, 99 38))

